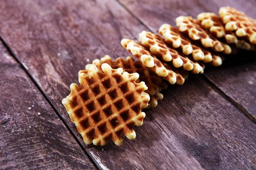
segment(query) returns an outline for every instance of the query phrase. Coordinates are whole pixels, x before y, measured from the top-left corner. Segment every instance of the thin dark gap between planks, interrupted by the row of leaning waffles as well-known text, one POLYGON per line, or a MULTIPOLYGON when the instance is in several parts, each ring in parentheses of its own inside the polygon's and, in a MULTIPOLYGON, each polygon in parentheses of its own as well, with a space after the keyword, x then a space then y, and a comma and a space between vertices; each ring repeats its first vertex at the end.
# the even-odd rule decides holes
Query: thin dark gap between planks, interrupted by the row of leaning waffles
MULTIPOLYGON (((139 23, 141 23, 143 26, 145 26, 148 30, 152 31, 153 33, 157 33, 156 30, 151 28, 150 26, 147 26, 147 24, 143 23, 140 18, 138 18, 129 8, 127 8, 123 3, 121 3, 119 0, 116 0, 117 3, 119 3, 122 8, 124 8, 129 14, 131 14, 132 17, 134 17, 139 23)), ((232 105, 234 105, 243 115, 252 121, 254 124, 256 124, 256 119, 247 111, 246 108, 244 108, 242 105, 240 105, 238 102, 236 102, 234 99, 232 99, 230 96, 228 96, 224 91, 222 91, 220 88, 218 88, 217 85, 215 85, 214 82, 212 82, 210 79, 208 79, 204 74, 203 75, 198 75, 200 76, 204 82, 206 82, 208 85, 210 85, 214 91, 216 91, 218 94, 223 96, 223 98, 227 101, 230 102, 232 105)))

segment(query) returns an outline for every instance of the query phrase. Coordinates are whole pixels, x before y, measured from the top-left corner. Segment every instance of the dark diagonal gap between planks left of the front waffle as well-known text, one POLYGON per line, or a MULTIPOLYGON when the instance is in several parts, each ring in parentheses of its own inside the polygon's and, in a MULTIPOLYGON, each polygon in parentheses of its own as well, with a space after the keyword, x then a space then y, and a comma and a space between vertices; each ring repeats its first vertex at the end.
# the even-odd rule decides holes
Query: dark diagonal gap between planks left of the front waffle
POLYGON ((21 68, 25 71, 25 73, 28 75, 28 77, 32 80, 32 82, 34 83, 35 87, 38 89, 38 91, 40 91, 40 93, 44 96, 44 98, 47 100, 47 102, 49 103, 49 105, 52 107, 52 109, 54 110, 54 112, 58 115, 59 119, 61 119, 61 121, 64 123, 64 125, 67 127, 67 129, 70 131, 70 133, 72 134, 72 136, 75 138, 76 142, 79 144, 79 146, 81 147, 81 149, 84 151, 85 155, 90 159, 90 161, 92 162, 93 166, 97 169, 100 170, 100 168, 97 166, 97 164, 93 161, 93 159, 90 157, 90 155, 86 152, 85 148, 83 147, 83 145, 79 142, 79 139, 76 137, 76 135, 73 133, 73 131, 71 130, 71 128, 67 125, 67 123, 64 121, 64 118, 60 115, 60 113, 58 113, 58 111, 56 110, 56 108, 52 105, 52 102, 50 102, 49 98, 47 97, 47 95, 44 93, 44 91, 40 88, 40 86, 38 85, 38 83, 35 81, 35 79, 32 77, 31 74, 29 74, 29 71, 26 69, 26 67, 22 64, 22 62, 20 62, 20 60, 15 56, 15 54, 12 52, 11 48, 7 45, 7 43, 3 40, 3 37, 0 36, 0 42, 3 43, 3 46, 6 48, 6 50, 9 52, 9 54, 15 59, 15 61, 21 66, 21 68))

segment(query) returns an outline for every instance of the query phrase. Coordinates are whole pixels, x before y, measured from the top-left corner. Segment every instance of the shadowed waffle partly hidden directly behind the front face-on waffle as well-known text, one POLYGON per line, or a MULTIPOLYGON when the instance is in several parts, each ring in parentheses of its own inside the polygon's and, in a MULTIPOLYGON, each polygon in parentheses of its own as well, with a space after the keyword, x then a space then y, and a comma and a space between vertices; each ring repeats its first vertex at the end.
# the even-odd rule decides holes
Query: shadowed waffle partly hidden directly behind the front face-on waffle
MULTIPOLYGON (((145 82, 145 85, 148 87, 148 89, 145 92, 150 95, 150 100, 148 102, 149 105, 152 103, 151 99, 153 99, 154 101, 155 99, 160 99, 159 97, 154 97, 155 94, 159 93, 162 89, 167 88, 167 84, 163 82, 163 77, 157 76, 157 74, 154 73, 154 71, 143 65, 141 61, 134 61, 132 57, 126 57, 126 59, 119 57, 115 61, 112 61, 110 56, 105 55, 101 59, 93 60, 93 65, 96 65, 96 67, 99 70, 101 70, 101 66, 103 63, 108 63, 108 65, 110 65, 113 69, 123 68, 123 71, 126 71, 129 74, 138 73, 140 77, 136 80, 136 83, 140 83, 143 81, 145 82)), ((86 70, 80 70, 79 74, 87 74, 90 65, 91 64, 86 65, 86 70)), ((151 108, 154 108, 156 106, 157 104, 151 106, 151 108)))

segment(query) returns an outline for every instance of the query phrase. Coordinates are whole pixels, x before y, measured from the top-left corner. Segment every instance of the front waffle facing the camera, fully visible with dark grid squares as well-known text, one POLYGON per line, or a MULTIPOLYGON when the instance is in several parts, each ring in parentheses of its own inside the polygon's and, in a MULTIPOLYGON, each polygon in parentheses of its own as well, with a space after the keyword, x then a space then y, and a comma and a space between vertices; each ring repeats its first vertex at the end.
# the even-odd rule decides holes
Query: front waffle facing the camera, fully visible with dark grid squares
POLYGON ((147 86, 135 82, 137 73, 112 69, 107 63, 101 68, 91 65, 87 74, 79 74, 80 86, 71 84, 71 93, 62 104, 86 144, 105 145, 112 139, 121 145, 121 133, 134 139, 134 125, 143 124, 141 109, 148 105, 147 86))

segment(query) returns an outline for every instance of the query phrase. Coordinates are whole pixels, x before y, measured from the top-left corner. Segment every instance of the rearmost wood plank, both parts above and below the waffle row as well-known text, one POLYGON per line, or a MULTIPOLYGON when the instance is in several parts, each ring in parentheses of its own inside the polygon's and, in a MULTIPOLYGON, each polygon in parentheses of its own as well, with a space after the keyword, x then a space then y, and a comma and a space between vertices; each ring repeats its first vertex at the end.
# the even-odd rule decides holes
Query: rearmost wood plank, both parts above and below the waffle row
MULTIPOLYGON (((221 6, 232 6, 250 17, 256 18, 255 0, 119 0, 134 16, 151 31, 157 32, 163 23, 176 26, 175 19, 180 15, 197 17, 201 12, 218 14, 221 6)), ((249 54, 249 53, 247 53, 249 54)), ((255 62, 247 54, 239 53, 236 61, 226 60, 220 68, 206 68, 204 75, 224 92, 247 116, 256 122, 256 81, 255 62), (241 61, 242 60, 242 61, 241 61), (232 62, 227 66, 227 62, 232 62), (234 63, 236 62, 236 63, 234 63)), ((249 56, 255 58, 255 54, 249 56)), ((232 56, 234 58, 234 56, 232 56)))

